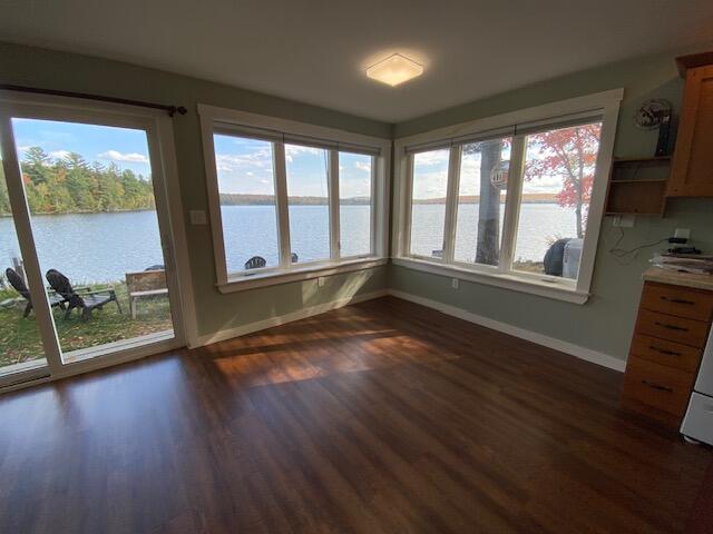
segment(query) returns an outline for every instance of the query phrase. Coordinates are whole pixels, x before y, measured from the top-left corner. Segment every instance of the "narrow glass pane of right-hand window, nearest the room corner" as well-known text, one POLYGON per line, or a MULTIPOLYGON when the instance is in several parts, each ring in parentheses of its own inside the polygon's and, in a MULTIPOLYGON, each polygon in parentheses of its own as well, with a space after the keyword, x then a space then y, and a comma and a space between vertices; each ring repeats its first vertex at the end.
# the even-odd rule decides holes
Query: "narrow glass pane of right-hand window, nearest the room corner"
POLYGON ((413 155, 411 254, 441 257, 446 224, 449 150, 413 155))

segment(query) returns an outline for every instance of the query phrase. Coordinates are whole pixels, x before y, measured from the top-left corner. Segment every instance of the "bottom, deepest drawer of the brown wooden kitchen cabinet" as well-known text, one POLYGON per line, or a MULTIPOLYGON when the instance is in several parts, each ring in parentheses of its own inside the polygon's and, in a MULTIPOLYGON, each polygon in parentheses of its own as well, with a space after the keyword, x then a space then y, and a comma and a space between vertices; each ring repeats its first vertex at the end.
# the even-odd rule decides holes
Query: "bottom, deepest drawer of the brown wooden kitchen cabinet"
POLYGON ((675 416, 682 416, 693 387, 692 373, 631 356, 624 396, 675 416))

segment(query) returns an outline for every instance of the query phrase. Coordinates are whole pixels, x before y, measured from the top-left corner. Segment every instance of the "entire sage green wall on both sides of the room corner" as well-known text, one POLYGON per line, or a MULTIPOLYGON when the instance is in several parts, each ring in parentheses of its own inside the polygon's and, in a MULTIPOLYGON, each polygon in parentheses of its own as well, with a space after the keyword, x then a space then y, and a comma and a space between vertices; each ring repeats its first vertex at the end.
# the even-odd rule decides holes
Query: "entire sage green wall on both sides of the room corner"
MULTIPOLYGON (((110 95, 186 106, 189 113, 175 119, 178 180, 184 210, 207 209, 205 174, 196 103, 272 115, 341 128, 378 137, 402 137, 441 126, 537 106, 595 91, 624 87, 615 154, 621 157, 653 154, 655 132, 637 130, 632 116, 647 98, 667 98, 680 105, 683 82, 673 58, 678 52, 615 63, 509 91, 416 120, 388 125, 290 100, 241 90, 195 78, 99 58, 0 43, 0 82, 110 95)), ((668 236, 674 228, 691 228, 693 244, 713 251, 713 200, 674 200, 665 218, 644 218, 625 229, 621 246, 634 247, 668 236)), ((215 268, 209 227, 187 226, 186 237, 196 296, 198 334, 208 336, 270 317, 345 296, 385 287, 438 300, 478 315, 580 345, 624 359, 641 291, 641 274, 652 250, 628 265, 607 253, 618 230, 605 219, 600 235, 594 296, 584 306, 506 289, 450 279, 395 267, 316 280, 221 295, 214 287, 215 268)))

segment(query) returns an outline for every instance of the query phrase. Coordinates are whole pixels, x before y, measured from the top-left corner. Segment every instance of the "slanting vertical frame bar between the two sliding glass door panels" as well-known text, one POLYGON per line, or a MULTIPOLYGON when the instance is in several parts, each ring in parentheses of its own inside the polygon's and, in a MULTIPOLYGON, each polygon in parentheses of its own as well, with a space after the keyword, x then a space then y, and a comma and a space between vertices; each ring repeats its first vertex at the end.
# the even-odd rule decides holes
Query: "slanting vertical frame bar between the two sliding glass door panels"
POLYGON ((14 220, 20 253, 25 264, 25 273, 28 278, 30 297, 32 298, 32 309, 37 317, 45 357, 47 366, 51 374, 61 369, 61 349, 55 322, 52 320, 52 310, 45 291, 45 283, 42 279, 42 270, 37 257, 37 248, 32 236, 32 225, 30 221, 30 209, 22 186, 22 171, 14 144, 14 132, 12 131, 12 122, 10 117, 3 115, 0 117, 0 141, 2 142, 2 162, 4 166, 6 182, 8 187, 8 197, 14 220))

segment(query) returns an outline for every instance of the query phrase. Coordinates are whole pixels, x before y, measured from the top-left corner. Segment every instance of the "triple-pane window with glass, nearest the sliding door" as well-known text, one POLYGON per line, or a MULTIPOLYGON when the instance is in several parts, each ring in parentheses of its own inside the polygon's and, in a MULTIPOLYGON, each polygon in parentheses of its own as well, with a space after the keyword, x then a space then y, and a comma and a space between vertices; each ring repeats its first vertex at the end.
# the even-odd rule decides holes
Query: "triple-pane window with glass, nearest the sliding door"
POLYGON ((385 263, 389 140, 198 110, 222 291, 385 263))

